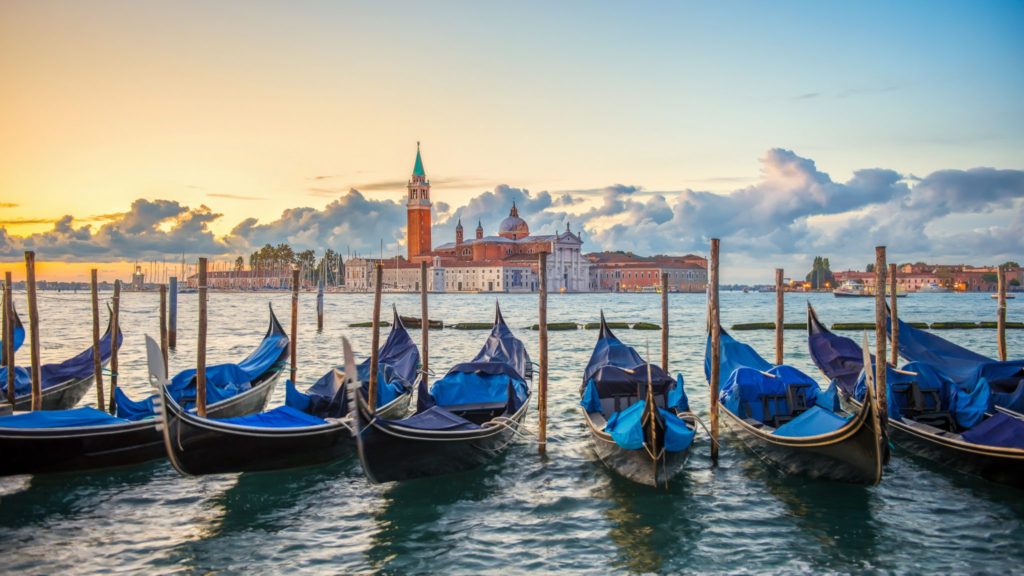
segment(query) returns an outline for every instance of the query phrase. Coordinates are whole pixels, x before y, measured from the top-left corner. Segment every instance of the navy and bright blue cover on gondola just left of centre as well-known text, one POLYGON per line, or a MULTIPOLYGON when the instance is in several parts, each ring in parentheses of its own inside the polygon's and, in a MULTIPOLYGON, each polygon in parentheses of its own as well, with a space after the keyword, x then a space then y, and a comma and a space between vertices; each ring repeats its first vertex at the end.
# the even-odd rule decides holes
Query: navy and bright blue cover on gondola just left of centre
POLYGON ((456 365, 434 382, 428 398, 423 398, 425 386, 421 386, 417 409, 503 403, 515 412, 529 398, 523 375, 531 373, 526 346, 509 330, 496 304, 495 326, 480 352, 471 362, 456 365))

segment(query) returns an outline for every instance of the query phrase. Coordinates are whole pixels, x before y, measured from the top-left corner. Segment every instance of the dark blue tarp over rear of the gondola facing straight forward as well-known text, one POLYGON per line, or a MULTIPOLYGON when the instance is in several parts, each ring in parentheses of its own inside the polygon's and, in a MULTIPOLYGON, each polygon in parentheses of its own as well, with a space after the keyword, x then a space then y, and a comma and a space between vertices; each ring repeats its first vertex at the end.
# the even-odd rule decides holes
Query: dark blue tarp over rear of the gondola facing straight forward
MULTIPOLYGON (((672 378, 660 366, 650 365, 651 393, 667 396, 667 407, 689 410, 689 400, 683 388, 683 376, 672 378)), ((600 412, 602 398, 632 396, 646 398, 648 365, 632 346, 626 345, 608 328, 601 314, 601 330, 590 362, 584 369, 583 400, 588 412, 600 412)), ((608 414, 606 414, 608 416, 608 414)))

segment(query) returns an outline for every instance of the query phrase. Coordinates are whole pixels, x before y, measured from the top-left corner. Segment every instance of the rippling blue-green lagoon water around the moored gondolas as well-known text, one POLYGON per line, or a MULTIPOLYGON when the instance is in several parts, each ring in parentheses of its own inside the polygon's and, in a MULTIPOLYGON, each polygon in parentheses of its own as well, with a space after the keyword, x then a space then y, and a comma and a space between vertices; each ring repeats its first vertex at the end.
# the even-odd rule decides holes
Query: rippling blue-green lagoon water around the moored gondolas
MULTIPOLYGON (((25 311, 18 294, 19 308, 25 311)), ((869 322, 873 300, 811 295, 820 318, 869 322)), ((502 295, 503 312, 536 361, 537 297, 502 295)), ((786 320, 804 319, 807 296, 790 295, 786 320)), ((196 296, 179 297, 178 349, 172 370, 195 361, 196 296)), ((156 294, 125 294, 121 385, 145 394, 142 334, 157 334, 156 294)), ((266 302, 288 322, 288 294, 210 297, 210 362, 238 361, 266 328, 266 302)), ((431 317, 480 322, 490 295, 431 296, 431 317)), ((419 316, 417 295, 384 296, 419 316)), ((1009 320, 1024 320, 1011 300, 1009 320)), ((329 294, 323 334, 314 297, 300 300, 299 380, 312 382, 340 357, 341 335, 369 349, 372 296, 329 294)), ((91 338, 87 294, 42 293, 43 359, 66 358, 91 338)), ((659 322, 659 296, 554 295, 551 322, 659 322)), ((993 320, 987 294, 911 295, 907 320, 993 320)), ((671 369, 681 371, 694 410, 707 420, 702 373, 705 299, 671 297, 671 369)), ((773 294, 722 294, 723 325, 774 320, 773 294)), ((419 339, 419 331, 413 330, 419 339)), ((620 331, 660 357, 659 334, 620 331)), ((773 332, 738 335, 772 358, 773 332)), ((945 331, 954 341, 995 355, 994 330, 945 331)), ((431 331, 430 363, 442 371, 475 354, 483 331, 431 331)), ((856 334, 859 339, 860 335, 856 334)), ((483 469, 403 485, 371 486, 355 459, 266 474, 182 478, 165 462, 115 471, 0 479, 0 554, 4 571, 282 571, 387 574, 453 572, 1008 572, 1024 562, 1024 493, 961 476, 897 453, 880 486, 786 478, 766 467, 738 439, 723 437, 712 468, 699 435, 682 478, 668 490, 622 481, 590 446, 577 410, 581 373, 595 331, 550 334, 548 457, 523 441, 483 469)), ((1024 355, 1024 331, 1010 330, 1012 357, 1024 355)), ((22 353, 19 359, 27 360, 22 353)), ((791 330, 785 358, 818 376, 805 334, 791 330)), ((271 405, 283 402, 279 386, 271 405)), ((90 394, 87 402, 94 402, 90 394)), ((528 422, 536 430, 536 412, 528 422)))

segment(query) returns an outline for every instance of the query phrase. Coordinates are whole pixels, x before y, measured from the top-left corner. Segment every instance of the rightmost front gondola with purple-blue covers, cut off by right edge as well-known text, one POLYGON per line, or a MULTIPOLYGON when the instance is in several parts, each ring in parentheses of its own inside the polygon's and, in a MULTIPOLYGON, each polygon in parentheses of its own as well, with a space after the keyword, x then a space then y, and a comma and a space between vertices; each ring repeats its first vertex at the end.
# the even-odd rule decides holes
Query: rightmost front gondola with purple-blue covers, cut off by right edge
MULTIPOLYGON (((903 332, 900 332, 902 338, 903 332)), ((867 387, 863 351, 830 332, 807 306, 807 343, 814 364, 851 409, 867 387)), ((907 453, 1001 484, 1024 488, 1024 420, 986 409, 987 383, 962 390, 926 362, 886 372, 889 435, 907 453)))

